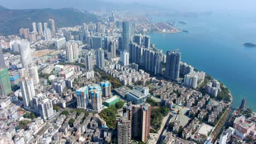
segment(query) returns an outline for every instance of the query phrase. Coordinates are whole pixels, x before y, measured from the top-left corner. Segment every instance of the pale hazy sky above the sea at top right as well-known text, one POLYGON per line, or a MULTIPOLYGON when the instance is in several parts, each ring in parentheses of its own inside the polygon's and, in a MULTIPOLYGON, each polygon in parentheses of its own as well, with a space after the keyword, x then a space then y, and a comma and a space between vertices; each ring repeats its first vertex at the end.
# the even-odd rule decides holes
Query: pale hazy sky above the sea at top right
POLYGON ((177 10, 190 11, 241 11, 253 13, 256 10, 255 0, 103 0, 107 2, 137 2, 158 5, 177 10))

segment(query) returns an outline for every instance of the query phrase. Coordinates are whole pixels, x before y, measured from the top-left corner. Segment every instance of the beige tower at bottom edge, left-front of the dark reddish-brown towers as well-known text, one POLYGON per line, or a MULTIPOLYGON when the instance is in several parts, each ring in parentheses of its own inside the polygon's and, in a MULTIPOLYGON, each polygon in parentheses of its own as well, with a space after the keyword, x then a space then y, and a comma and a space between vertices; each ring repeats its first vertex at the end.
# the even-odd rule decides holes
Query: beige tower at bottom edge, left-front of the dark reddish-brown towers
POLYGON ((118 122, 118 143, 130 144, 131 143, 131 121, 121 119, 118 122))

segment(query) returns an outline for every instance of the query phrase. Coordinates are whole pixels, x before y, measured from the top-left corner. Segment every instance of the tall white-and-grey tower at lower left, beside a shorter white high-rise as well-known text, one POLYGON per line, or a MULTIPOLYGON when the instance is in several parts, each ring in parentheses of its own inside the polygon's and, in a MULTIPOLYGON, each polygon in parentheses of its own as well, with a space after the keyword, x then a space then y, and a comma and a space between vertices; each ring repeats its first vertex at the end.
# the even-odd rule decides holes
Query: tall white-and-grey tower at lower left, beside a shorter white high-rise
POLYGON ((34 91, 34 84, 31 78, 25 77, 24 79, 20 80, 20 89, 21 95, 23 99, 23 103, 25 107, 32 106, 33 104, 33 97, 36 95, 34 91))

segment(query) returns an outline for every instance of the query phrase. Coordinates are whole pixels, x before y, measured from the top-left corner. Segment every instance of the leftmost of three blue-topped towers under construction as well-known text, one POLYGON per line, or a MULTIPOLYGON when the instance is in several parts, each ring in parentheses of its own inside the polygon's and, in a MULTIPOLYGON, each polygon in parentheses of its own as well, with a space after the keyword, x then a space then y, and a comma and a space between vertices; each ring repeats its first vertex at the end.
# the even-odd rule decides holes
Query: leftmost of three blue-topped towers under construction
POLYGON ((75 91, 77 94, 77 108, 86 109, 89 104, 88 87, 82 87, 75 91))

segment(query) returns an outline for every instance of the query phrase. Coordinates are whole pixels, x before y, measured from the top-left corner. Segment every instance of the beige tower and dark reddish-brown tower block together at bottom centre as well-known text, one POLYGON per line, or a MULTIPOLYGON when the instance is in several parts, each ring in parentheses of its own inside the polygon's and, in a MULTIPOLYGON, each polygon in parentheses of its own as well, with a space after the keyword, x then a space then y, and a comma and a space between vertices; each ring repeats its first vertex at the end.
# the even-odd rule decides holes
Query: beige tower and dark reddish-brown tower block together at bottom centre
POLYGON ((123 118, 117 124, 118 143, 131 143, 131 140, 146 142, 150 132, 150 104, 132 105, 123 108, 123 118))

